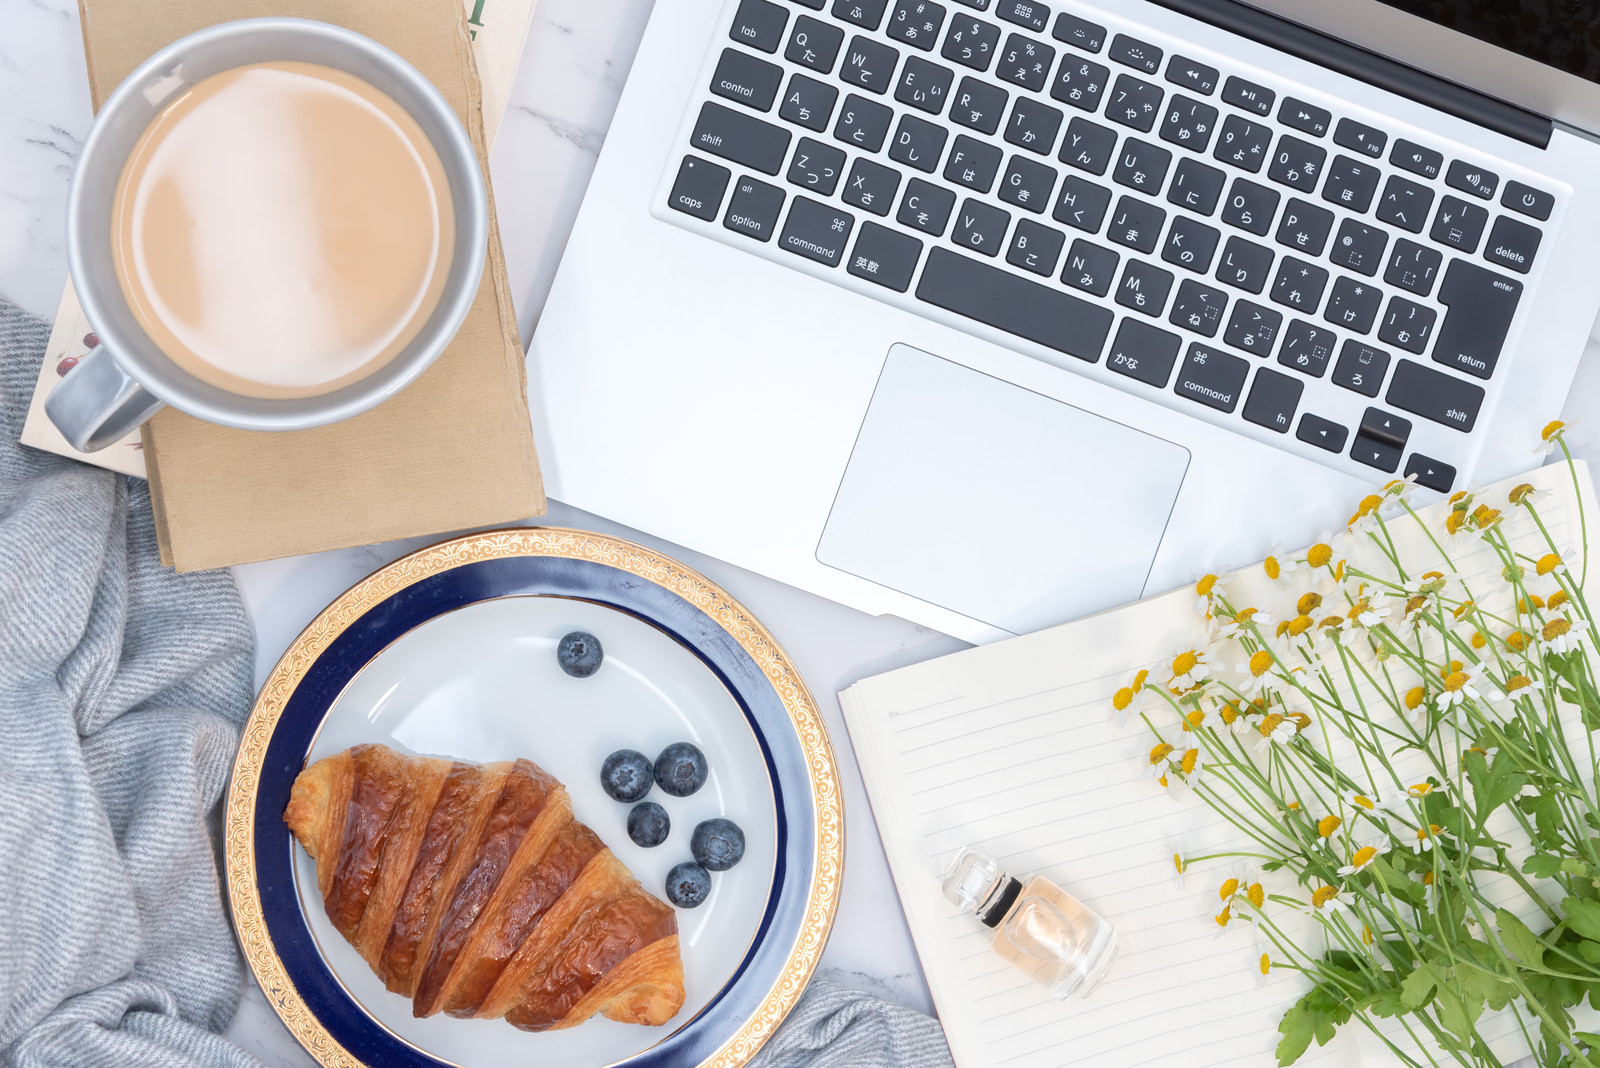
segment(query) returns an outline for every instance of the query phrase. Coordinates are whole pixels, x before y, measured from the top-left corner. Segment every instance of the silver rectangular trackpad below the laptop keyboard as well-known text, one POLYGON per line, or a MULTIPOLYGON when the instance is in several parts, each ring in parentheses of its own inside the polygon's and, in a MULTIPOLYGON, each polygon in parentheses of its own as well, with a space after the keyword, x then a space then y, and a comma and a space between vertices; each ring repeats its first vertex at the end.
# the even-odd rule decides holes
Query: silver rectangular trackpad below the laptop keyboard
POLYGON ((1136 600, 1189 451, 890 349, 816 556, 1024 633, 1136 600))

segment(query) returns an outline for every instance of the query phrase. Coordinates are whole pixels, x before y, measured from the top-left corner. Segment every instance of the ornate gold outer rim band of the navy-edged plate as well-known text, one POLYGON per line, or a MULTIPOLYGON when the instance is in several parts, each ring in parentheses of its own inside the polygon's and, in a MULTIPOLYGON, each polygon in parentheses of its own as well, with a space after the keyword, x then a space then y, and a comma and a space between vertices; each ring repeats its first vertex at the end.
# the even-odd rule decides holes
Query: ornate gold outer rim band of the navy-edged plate
MULTIPOLYGON (((789 713, 811 787, 814 846, 803 919, 778 980, 744 1025, 699 1068, 741 1068, 771 1038, 816 972, 838 911, 845 865, 845 814, 838 764, 821 710, 771 632, 715 582, 653 548, 610 534, 555 526, 502 528, 445 539, 395 560, 334 598, 290 643, 267 675, 240 732, 227 787, 224 867, 234 931, 256 983, 294 1039, 323 1068, 376 1068, 344 1049, 307 1007, 278 959, 256 886, 253 828, 267 745, 310 667, 352 624, 395 593, 490 560, 546 556, 605 564, 688 601, 755 662, 789 713)), ((494 598, 485 598, 494 600, 494 598)))

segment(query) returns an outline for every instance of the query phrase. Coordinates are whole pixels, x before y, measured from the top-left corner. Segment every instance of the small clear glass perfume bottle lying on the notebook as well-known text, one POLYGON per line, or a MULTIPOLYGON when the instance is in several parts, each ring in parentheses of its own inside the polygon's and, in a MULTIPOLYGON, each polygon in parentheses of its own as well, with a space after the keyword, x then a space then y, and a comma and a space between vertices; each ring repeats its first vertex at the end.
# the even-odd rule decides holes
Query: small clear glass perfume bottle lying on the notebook
POLYGON ((1050 879, 1024 879, 963 849, 944 895, 978 916, 1003 961, 1062 1001, 1086 998, 1117 959, 1117 931, 1050 879))

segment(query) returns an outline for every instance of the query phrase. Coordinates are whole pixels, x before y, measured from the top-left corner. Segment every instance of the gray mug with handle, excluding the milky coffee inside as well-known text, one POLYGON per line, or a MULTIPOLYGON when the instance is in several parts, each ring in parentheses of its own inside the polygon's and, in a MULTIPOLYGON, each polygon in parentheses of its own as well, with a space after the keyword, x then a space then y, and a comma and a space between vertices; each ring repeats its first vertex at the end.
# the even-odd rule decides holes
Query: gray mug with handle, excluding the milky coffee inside
POLYGON ((445 350, 478 291, 488 249, 488 195, 456 112, 427 78, 382 45, 310 19, 222 22, 150 56, 117 86, 90 130, 67 200, 67 267, 99 347, 50 393, 45 412, 83 452, 102 449, 163 404, 245 430, 302 430, 349 419, 411 384, 445 350), (450 273, 434 313, 394 360, 317 397, 242 397, 173 363, 139 326, 112 265, 112 201, 123 163, 150 122, 195 83, 253 62, 334 67, 389 94, 438 152, 456 216, 450 273))

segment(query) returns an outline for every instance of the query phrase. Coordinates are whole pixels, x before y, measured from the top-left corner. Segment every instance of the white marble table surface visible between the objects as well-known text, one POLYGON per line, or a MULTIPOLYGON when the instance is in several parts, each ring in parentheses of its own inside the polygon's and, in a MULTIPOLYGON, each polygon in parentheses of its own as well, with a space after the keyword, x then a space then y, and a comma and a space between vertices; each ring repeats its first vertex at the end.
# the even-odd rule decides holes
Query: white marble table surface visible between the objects
MULTIPOLYGON (((539 318, 650 8, 651 0, 539 0, 534 11, 491 157, 525 342, 539 318)), ((54 315, 66 280, 67 179, 88 126, 74 0, 0 0, 0 296, 45 318, 54 315)), ((1568 417, 1592 411, 1597 400, 1600 360, 1589 358, 1568 417)), ((1579 454, 1600 457, 1600 420, 1574 427, 1570 440, 1579 454)), ((834 692, 962 643, 899 619, 864 616, 558 502, 550 502, 546 521, 619 534, 678 556, 744 601, 784 643, 824 708, 851 817, 845 891, 822 974, 931 1010, 834 692)), ((258 683, 330 600, 426 540, 235 568, 256 625, 258 683)), ((229 1036, 270 1068, 312 1065, 253 985, 246 985, 229 1036)))

